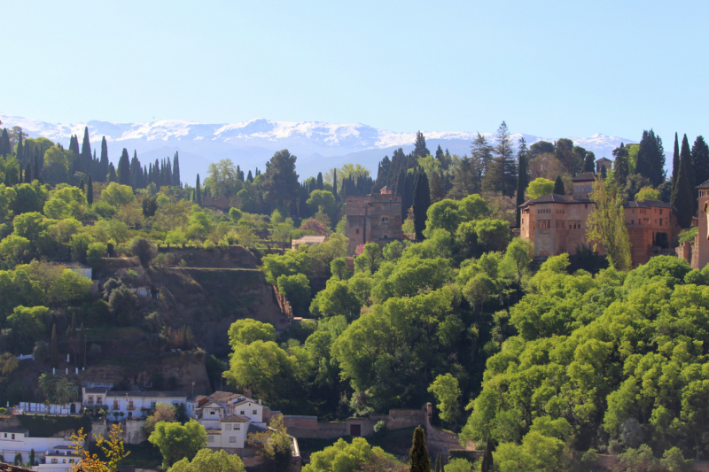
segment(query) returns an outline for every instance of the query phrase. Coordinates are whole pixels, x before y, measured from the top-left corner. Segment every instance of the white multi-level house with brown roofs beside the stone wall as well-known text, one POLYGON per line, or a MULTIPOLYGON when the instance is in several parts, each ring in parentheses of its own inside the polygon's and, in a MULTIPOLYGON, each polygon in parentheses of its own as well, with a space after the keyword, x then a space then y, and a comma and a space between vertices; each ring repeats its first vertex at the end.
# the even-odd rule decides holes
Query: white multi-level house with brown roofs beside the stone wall
POLYGON ((261 400, 216 391, 192 416, 206 429, 209 449, 243 449, 249 432, 266 430, 261 400))

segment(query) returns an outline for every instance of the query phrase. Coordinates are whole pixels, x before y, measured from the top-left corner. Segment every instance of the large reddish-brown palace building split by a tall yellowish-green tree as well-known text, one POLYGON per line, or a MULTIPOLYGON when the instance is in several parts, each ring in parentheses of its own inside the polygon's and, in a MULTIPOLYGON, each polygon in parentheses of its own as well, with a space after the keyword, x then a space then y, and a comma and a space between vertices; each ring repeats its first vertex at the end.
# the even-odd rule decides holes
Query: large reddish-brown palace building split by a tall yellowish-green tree
MULTIPOLYGON (((575 254, 581 245, 588 245, 588 215, 594 210, 588 196, 595 180, 593 173, 583 173, 572 179, 573 195, 549 194, 520 205, 520 236, 534 243, 534 256, 575 254)), ((643 200, 623 207, 634 266, 670 253, 679 230, 671 205, 643 200)), ((597 250, 604 253, 600 244, 597 250)))

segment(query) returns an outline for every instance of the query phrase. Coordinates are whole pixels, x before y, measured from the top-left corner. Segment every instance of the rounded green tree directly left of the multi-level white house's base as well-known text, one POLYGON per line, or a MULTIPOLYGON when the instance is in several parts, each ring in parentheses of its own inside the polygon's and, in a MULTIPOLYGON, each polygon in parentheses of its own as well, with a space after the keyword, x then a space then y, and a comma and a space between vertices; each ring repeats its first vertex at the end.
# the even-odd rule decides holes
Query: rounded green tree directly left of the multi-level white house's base
POLYGON ((206 445, 206 429, 194 420, 184 425, 178 422, 159 422, 148 441, 162 453, 162 468, 167 470, 178 460, 192 460, 206 445))

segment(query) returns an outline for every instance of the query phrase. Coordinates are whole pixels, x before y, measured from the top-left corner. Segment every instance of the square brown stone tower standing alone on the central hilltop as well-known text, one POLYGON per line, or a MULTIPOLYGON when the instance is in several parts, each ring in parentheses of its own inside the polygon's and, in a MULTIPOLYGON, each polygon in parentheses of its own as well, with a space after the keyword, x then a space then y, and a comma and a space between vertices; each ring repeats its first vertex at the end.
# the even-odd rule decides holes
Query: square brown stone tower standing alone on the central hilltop
POLYGON ((388 187, 380 193, 347 197, 347 256, 353 256, 360 244, 385 246, 401 239, 401 197, 388 187))

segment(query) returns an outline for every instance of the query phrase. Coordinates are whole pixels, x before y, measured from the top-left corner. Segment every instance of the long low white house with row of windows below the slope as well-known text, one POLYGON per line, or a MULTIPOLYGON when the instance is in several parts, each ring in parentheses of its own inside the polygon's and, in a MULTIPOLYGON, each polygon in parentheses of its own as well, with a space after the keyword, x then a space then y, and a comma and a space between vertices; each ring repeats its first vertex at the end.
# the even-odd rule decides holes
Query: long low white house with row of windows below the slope
POLYGON ((85 407, 106 406, 108 414, 114 418, 130 420, 147 416, 158 403, 186 404, 187 394, 182 391, 110 391, 83 387, 82 400, 85 407))

